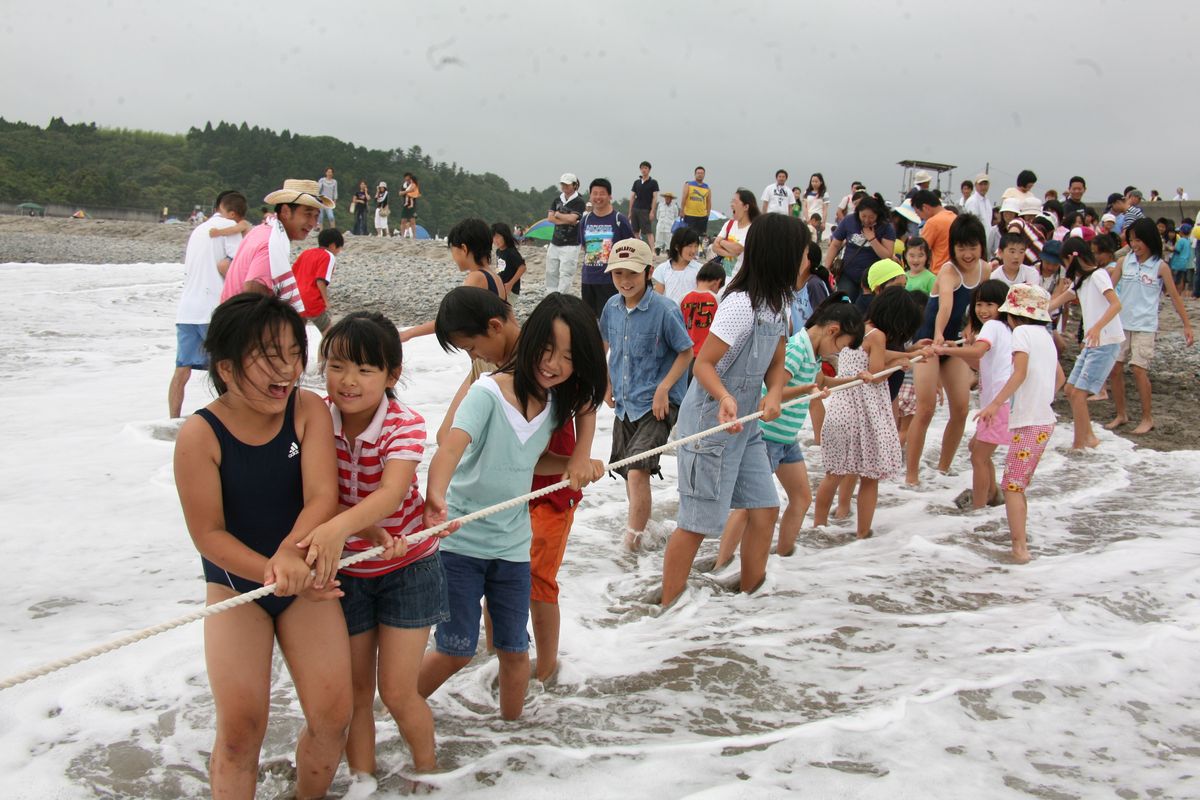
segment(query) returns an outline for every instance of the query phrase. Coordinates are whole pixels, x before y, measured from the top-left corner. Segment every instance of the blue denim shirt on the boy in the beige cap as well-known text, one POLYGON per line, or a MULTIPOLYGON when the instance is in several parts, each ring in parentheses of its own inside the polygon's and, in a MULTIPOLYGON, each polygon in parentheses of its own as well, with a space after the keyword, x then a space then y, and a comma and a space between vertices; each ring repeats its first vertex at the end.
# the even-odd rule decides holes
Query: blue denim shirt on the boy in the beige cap
MULTIPOLYGON (((600 314, 600 336, 608 345, 608 380, 617 416, 630 421, 646 416, 654 404, 654 390, 671 372, 676 357, 691 349, 683 312, 650 288, 628 312, 625 299, 613 295, 600 314)), ((685 389, 680 377, 671 387, 673 405, 683 403, 685 389)))

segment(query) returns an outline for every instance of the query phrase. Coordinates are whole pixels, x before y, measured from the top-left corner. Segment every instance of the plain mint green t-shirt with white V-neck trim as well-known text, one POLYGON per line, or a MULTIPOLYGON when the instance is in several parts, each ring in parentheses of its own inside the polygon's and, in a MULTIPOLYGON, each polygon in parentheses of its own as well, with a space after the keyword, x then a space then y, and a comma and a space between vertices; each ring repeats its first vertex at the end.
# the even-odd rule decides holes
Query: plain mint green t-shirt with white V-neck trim
MULTIPOLYGON (((500 393, 491 375, 467 390, 454 427, 470 437, 446 489, 450 519, 529 491, 533 468, 554 432, 553 396, 542 413, 526 420, 500 393)), ((528 561, 529 504, 469 522, 442 540, 442 549, 478 559, 528 561)))

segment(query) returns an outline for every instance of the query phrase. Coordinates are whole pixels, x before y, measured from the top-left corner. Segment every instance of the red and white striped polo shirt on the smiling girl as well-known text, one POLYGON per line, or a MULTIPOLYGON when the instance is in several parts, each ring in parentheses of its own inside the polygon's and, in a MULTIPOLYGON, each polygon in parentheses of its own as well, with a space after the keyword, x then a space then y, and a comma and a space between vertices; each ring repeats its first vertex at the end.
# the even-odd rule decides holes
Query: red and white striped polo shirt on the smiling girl
MULTIPOLYGON (((337 494, 343 507, 353 507, 379 488, 384 465, 394 459, 420 462, 425 455, 425 420, 420 414, 400 401, 384 397, 379 410, 366 431, 354 441, 348 441, 342 431, 342 414, 326 397, 329 413, 334 417, 334 441, 337 446, 337 494)), ((416 475, 408 487, 400 507, 378 523, 392 536, 407 536, 422 530, 421 515, 425 512, 425 499, 421 497, 416 475)), ((342 570, 343 575, 356 578, 374 578, 386 575, 413 561, 431 555, 438 549, 438 537, 432 536, 408 548, 408 552, 395 559, 368 559, 342 570)), ((350 536, 346 540, 342 557, 371 549, 371 542, 350 536)))

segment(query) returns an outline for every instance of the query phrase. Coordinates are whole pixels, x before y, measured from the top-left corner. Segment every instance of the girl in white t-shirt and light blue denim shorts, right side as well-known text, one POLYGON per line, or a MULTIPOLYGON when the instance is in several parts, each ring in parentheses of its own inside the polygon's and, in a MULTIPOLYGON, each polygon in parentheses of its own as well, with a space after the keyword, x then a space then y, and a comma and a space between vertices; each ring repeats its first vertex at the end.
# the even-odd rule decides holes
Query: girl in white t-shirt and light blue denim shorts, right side
POLYGON ((1124 329, 1121 327, 1121 301, 1112 288, 1112 278, 1097 265, 1092 247, 1073 236, 1063 242, 1062 259, 1067 264, 1067 281, 1070 285, 1050 301, 1050 309, 1070 300, 1079 300, 1084 315, 1084 347, 1067 380, 1067 399, 1075 417, 1075 440, 1072 447, 1082 450, 1100 444, 1092 432, 1087 399, 1104 389, 1104 381, 1108 380, 1124 342, 1124 329))

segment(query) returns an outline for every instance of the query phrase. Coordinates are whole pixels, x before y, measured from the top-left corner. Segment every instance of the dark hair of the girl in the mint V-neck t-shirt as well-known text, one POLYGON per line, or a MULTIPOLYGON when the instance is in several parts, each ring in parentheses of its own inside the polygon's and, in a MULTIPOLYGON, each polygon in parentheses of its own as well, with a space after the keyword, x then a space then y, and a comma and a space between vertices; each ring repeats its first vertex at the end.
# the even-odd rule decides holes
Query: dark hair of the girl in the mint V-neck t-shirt
POLYGON ((574 295, 552 291, 529 313, 517 337, 517 349, 499 372, 512 375, 512 391, 522 409, 529 401, 546 401, 538 383, 538 363, 553 344, 554 320, 563 320, 571 332, 571 377, 554 386, 554 427, 566 420, 599 408, 608 385, 600 326, 592 308, 574 295))

